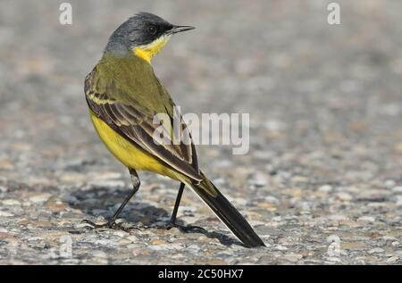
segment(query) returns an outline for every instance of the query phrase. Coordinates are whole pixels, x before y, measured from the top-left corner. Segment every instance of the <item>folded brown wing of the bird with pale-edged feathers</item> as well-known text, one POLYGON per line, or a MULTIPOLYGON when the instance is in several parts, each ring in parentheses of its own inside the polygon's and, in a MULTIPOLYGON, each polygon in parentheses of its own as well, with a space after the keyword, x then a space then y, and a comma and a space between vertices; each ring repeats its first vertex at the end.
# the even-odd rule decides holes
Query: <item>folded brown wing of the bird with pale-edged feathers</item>
MULTIPOLYGON (((140 146, 147 153, 154 155, 173 169, 197 182, 202 180, 198 170, 196 148, 184 123, 180 123, 180 134, 182 134, 180 143, 175 145, 172 138, 174 135, 172 132, 167 132, 169 128, 159 127, 160 125, 154 123, 155 115, 160 113, 143 109, 140 104, 129 104, 126 100, 119 100, 116 98, 119 96, 115 93, 119 89, 115 87, 113 80, 109 84, 93 83, 95 76, 96 69, 89 73, 85 79, 85 94, 89 108, 95 112, 98 118, 105 121, 122 137, 140 146), (99 87, 100 85, 105 85, 105 87, 99 87), (113 94, 108 95, 110 92, 113 94), (158 135, 155 135, 156 129, 159 130, 158 135), (159 137, 163 129, 165 130, 163 135, 165 139, 158 140, 155 137, 159 137), (188 142, 183 143, 183 141, 188 142)), ((166 105, 164 107, 166 112, 163 113, 169 116, 169 122, 173 127, 173 117, 167 107, 174 107, 174 104, 166 105)), ((163 120, 163 122, 166 121, 163 120)))

